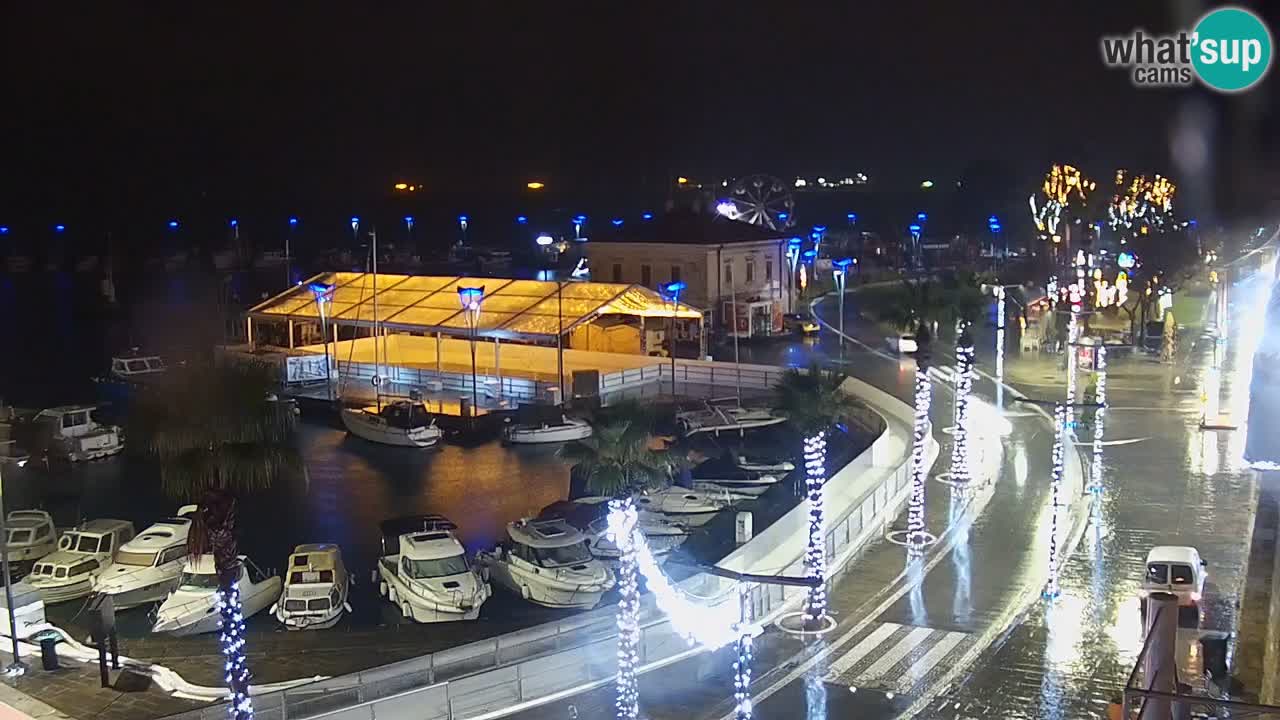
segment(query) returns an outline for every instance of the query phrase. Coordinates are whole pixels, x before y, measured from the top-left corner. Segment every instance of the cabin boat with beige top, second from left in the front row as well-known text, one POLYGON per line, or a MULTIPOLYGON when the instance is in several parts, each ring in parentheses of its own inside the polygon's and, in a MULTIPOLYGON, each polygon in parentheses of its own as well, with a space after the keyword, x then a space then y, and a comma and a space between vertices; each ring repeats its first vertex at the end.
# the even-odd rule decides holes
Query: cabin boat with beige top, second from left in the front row
POLYGON ((131 539, 133 523, 128 520, 90 520, 63 533, 58 550, 36 562, 27 579, 46 603, 84 597, 131 539))

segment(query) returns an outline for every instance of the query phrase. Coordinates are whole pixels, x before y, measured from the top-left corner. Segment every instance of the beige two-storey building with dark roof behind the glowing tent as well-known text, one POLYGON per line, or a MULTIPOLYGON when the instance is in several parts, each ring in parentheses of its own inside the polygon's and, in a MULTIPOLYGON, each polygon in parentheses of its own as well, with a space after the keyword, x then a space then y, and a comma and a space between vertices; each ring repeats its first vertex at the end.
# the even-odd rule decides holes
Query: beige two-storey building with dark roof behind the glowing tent
POLYGON ((742 337, 782 332, 790 311, 786 246, 790 234, 722 215, 673 210, 650 222, 595 236, 586 256, 595 282, 659 288, 682 281, 681 302, 728 329, 737 309, 742 337))

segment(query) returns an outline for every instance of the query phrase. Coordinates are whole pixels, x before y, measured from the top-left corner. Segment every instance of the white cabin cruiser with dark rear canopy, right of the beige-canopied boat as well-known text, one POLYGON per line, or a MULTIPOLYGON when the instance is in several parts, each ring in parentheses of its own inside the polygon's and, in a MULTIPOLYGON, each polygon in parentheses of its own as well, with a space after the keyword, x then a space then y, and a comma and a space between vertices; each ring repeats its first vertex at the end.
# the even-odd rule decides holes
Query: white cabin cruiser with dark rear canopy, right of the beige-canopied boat
POLYGON ((457 525, 443 515, 411 515, 381 524, 378 591, 416 623, 475 620, 489 584, 467 561, 457 525))

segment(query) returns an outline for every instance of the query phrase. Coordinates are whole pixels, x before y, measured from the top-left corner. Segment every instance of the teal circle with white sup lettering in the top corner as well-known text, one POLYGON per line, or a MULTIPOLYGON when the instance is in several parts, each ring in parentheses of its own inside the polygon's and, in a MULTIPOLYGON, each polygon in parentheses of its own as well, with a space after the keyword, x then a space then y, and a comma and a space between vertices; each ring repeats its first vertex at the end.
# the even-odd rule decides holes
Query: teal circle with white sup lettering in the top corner
POLYGON ((1271 31, 1243 8, 1219 8, 1193 31, 1192 65, 1201 81, 1221 92, 1253 87, 1271 67, 1271 31))

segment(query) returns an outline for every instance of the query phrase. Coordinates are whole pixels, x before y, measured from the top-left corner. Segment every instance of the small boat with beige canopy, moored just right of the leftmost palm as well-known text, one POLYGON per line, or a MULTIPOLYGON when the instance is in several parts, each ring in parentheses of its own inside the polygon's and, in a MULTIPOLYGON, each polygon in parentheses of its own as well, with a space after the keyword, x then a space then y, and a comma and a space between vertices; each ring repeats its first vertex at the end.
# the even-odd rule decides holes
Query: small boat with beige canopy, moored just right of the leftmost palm
POLYGON ((300 544, 289 555, 284 591, 271 614, 291 630, 324 630, 351 612, 351 575, 332 543, 300 544))

